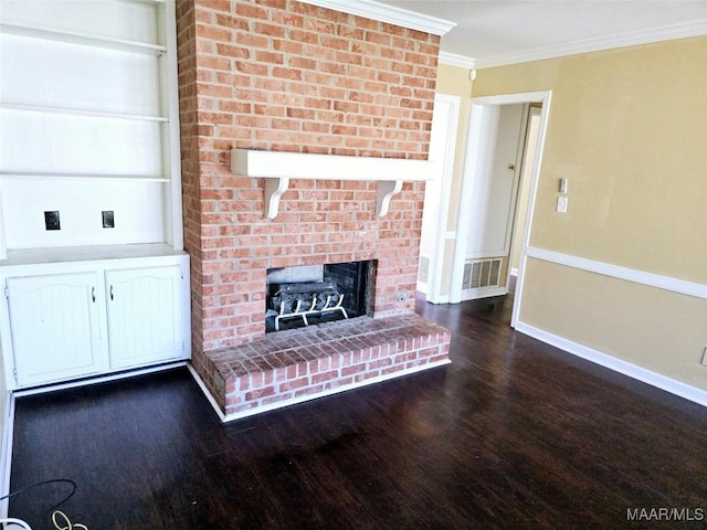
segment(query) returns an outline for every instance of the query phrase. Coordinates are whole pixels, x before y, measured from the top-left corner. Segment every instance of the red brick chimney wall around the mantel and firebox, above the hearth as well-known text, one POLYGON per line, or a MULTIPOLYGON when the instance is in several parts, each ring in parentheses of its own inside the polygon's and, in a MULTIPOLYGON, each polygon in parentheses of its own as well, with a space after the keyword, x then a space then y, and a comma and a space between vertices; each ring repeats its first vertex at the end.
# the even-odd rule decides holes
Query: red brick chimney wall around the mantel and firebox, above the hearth
POLYGON ((439 38, 295 0, 177 4, 196 363, 263 336, 268 267, 377 259, 374 316, 412 312, 423 184, 378 220, 374 183, 295 180, 267 220, 230 149, 426 159, 439 38))

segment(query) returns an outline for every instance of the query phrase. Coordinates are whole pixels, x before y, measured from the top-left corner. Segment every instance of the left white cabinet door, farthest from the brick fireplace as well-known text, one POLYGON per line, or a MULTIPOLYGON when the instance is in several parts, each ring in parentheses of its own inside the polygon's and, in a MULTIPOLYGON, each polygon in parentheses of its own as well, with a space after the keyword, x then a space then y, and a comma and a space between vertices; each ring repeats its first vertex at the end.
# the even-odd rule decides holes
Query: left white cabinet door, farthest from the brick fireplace
POLYGON ((14 367, 20 386, 102 370, 95 273, 8 278, 14 367))

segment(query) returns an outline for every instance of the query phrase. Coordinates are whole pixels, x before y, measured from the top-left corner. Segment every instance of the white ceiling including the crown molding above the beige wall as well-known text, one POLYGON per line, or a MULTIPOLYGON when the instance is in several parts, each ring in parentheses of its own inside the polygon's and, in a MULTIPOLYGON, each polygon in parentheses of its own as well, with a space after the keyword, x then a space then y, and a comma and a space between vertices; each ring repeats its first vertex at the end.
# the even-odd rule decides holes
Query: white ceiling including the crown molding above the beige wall
POLYGON ((707 0, 378 0, 456 22, 441 51, 476 67, 707 34, 707 0))

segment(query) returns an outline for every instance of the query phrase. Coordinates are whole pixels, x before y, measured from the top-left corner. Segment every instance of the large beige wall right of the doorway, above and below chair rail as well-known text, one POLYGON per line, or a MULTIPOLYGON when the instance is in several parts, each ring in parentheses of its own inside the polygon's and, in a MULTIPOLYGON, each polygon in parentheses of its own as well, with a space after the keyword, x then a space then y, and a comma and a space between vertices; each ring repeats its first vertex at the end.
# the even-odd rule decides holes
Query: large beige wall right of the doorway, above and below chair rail
MULTIPOLYGON (((531 246, 707 284, 707 38, 482 70, 552 91, 531 246), (555 212, 558 180, 569 210, 555 212)), ((520 320, 707 390, 707 303, 532 261, 520 320)))

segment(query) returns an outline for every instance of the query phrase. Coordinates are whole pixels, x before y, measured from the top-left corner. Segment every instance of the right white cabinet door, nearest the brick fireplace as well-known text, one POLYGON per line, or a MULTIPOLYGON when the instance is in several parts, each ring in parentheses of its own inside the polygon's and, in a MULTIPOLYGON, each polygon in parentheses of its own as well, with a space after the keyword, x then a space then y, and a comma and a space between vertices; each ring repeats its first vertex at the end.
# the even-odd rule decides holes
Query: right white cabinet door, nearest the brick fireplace
POLYGON ((183 357, 178 265, 106 272, 110 368, 183 357))

